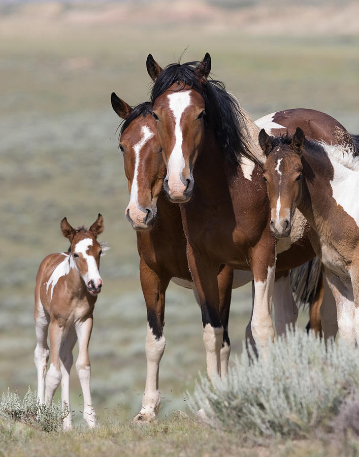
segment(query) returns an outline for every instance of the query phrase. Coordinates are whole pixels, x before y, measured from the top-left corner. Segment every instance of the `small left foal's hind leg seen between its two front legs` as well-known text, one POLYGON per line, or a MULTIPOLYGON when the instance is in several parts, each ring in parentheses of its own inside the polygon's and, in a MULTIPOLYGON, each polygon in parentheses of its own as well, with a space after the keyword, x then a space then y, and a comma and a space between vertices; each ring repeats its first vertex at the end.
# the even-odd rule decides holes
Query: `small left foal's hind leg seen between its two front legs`
POLYGON ((70 407, 70 370, 74 361, 72 350, 77 340, 74 327, 69 329, 69 333, 63 342, 60 350, 60 370, 61 370, 61 403, 66 403, 69 414, 63 419, 63 429, 72 428, 72 415, 70 407))

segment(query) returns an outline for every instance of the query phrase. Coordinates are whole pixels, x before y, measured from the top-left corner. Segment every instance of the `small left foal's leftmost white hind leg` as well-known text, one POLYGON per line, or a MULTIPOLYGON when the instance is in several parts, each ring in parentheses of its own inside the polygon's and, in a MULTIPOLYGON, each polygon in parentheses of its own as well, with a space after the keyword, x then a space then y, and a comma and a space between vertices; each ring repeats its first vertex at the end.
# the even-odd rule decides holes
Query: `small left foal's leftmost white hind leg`
POLYGON ((34 352, 34 361, 38 373, 38 399, 40 403, 45 401, 45 373, 49 361, 49 346, 47 345, 47 333, 49 328, 50 317, 45 313, 44 307, 37 299, 35 305, 35 332, 37 345, 34 352))

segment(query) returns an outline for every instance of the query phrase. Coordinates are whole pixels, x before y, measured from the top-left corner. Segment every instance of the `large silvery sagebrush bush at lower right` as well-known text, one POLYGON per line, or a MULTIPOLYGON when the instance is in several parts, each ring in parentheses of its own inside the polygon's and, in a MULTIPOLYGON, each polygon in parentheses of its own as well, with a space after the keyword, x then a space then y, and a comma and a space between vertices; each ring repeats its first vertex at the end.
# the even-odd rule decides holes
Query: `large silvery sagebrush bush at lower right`
MULTIPOLYGON (((213 386, 200 376, 188 394, 193 413, 208 422, 251 435, 303 436, 330 426, 349 392, 359 383, 359 351, 343 342, 325 344, 312 332, 288 331, 270 343, 266 355, 244 351, 226 380, 213 386)), ((356 389, 357 390, 357 389, 356 389)))

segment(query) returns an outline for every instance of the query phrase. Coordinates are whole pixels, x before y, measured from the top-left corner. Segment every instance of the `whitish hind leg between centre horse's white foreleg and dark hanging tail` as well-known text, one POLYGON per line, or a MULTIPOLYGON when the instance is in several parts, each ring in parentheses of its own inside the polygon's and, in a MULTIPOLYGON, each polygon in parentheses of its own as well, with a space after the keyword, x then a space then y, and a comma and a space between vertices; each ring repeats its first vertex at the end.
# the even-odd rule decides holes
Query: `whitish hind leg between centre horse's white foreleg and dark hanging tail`
POLYGON ((285 333, 287 325, 294 327, 298 318, 298 307, 290 289, 289 271, 276 273, 273 289, 274 320, 278 335, 285 333))

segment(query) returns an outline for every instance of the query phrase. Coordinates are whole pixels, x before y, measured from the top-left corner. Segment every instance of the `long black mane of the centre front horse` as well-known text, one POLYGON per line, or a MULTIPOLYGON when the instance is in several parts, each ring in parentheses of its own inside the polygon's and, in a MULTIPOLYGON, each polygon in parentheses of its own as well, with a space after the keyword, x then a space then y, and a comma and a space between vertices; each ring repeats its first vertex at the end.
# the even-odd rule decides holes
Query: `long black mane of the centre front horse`
POLYGON ((241 157, 247 157, 258 164, 258 158, 248 147, 246 117, 237 99, 226 91, 223 82, 212 78, 200 80, 195 73, 199 64, 193 61, 168 65, 153 85, 151 103, 176 82, 178 90, 185 85, 191 87, 204 98, 205 124, 213 130, 226 161, 238 166, 241 157))

